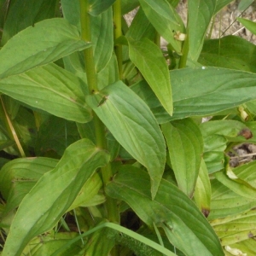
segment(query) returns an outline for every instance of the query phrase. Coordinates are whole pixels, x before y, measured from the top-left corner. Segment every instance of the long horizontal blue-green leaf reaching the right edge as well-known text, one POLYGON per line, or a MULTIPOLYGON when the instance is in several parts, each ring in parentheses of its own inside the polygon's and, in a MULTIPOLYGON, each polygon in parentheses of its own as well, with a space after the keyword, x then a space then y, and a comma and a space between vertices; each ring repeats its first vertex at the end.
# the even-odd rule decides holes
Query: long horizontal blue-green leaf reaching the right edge
POLYGON ((171 71, 172 117, 150 92, 145 81, 132 90, 147 102, 160 124, 189 116, 207 116, 234 108, 256 98, 256 74, 217 67, 182 68, 171 71))

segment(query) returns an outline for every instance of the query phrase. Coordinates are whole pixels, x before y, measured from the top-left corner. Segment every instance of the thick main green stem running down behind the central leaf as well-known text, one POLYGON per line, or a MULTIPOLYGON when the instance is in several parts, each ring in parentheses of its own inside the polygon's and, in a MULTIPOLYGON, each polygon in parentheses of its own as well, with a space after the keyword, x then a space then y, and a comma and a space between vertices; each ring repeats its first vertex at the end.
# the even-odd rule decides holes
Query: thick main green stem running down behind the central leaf
MULTIPOLYGON (((90 14, 88 13, 89 8, 89 0, 80 0, 81 38, 86 42, 91 42, 90 14)), ((87 84, 89 86, 90 93, 95 94, 98 91, 98 88, 92 47, 84 49, 84 61, 86 63, 85 72, 87 75, 87 84)), ((98 148, 107 149, 108 145, 105 137, 105 126, 102 124, 101 119, 98 118, 96 113, 93 115, 96 131, 96 146, 98 148)), ((103 184, 105 186, 113 177, 110 163, 108 163, 107 166, 102 167, 101 171, 103 184)), ((108 210, 108 219, 112 222, 119 223, 116 201, 107 197, 106 205, 108 210)))

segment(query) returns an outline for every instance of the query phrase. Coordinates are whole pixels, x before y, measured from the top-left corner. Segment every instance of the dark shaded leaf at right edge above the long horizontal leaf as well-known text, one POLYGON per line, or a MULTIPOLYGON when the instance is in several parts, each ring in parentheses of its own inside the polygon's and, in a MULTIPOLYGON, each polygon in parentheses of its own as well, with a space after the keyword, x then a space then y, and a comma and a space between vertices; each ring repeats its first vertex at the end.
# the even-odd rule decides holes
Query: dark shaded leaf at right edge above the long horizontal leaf
POLYGON ((256 73, 255 51, 256 46, 247 40, 228 36, 207 40, 198 61, 206 66, 226 67, 256 73))

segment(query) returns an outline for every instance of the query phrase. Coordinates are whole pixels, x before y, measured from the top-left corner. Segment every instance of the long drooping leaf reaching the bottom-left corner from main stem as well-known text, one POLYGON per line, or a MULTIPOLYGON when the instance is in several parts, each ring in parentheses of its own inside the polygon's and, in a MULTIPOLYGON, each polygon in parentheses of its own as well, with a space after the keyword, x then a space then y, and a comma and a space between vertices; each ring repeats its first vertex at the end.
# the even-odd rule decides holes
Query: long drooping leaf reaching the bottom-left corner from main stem
POLYGON ((34 236, 53 228, 96 168, 108 160, 108 154, 87 139, 69 146, 55 169, 45 173, 20 203, 2 255, 20 255, 34 236))

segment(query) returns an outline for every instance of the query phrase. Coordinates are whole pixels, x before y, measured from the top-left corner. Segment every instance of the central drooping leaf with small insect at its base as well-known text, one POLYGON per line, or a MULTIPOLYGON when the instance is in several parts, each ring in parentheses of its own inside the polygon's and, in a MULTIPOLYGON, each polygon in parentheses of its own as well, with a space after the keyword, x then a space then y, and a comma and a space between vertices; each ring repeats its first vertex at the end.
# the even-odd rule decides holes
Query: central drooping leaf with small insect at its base
POLYGON ((165 167, 166 144, 147 104, 121 81, 87 96, 86 102, 128 153, 147 167, 154 198, 165 167))

